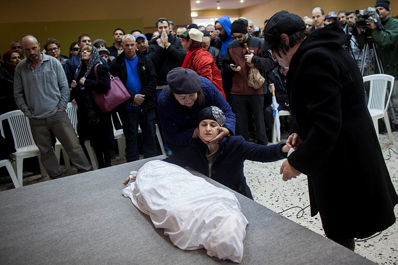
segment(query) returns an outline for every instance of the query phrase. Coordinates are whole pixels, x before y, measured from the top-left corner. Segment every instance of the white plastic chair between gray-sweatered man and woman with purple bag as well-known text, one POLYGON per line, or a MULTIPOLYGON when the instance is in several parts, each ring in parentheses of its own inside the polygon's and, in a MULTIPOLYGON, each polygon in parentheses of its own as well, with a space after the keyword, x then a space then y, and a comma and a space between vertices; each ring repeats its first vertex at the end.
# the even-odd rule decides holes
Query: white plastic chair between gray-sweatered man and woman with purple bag
MULTIPOLYGON (((78 135, 78 105, 73 104, 72 102, 69 102, 67 107, 66 107, 66 113, 68 113, 68 117, 71 120, 72 126, 75 129, 76 135, 78 135)), ((89 153, 89 157, 91 160, 91 164, 93 165, 94 170, 98 170, 98 163, 97 163, 97 157, 96 154, 94 153, 94 149, 91 146, 90 140, 86 140, 84 142, 84 145, 86 146, 87 152, 89 153)), ((55 143, 55 155, 58 158, 58 163, 60 161, 61 157, 61 150, 62 150, 62 155, 64 156, 64 162, 65 162, 65 168, 67 170, 71 169, 71 163, 69 162, 69 156, 66 153, 64 147, 60 143, 60 141, 57 139, 57 142, 55 143)))

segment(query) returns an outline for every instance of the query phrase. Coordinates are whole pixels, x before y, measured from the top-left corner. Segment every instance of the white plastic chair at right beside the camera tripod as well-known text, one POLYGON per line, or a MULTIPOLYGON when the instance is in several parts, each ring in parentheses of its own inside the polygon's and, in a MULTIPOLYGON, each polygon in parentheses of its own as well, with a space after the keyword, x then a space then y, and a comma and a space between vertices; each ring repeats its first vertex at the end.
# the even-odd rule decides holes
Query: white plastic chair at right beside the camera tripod
POLYGON ((364 83, 370 82, 368 109, 372 117, 373 125, 375 126, 377 137, 379 138, 378 119, 383 118, 390 137, 390 143, 394 144, 387 108, 390 103, 391 94, 393 93, 395 78, 390 75, 377 74, 365 76, 363 79, 364 83), (390 89, 389 92, 387 91, 387 88, 390 89), (386 100, 387 92, 389 93, 389 96, 386 100))

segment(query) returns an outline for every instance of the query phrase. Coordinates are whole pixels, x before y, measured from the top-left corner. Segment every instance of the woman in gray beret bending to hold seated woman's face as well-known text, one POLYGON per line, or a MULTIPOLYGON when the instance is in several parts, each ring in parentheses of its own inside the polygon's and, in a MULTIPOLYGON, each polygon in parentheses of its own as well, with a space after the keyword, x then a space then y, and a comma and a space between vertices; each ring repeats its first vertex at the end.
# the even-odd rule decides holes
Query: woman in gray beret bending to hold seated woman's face
POLYGON ((175 68, 167 75, 169 85, 158 97, 159 120, 163 137, 173 153, 190 145, 199 137, 197 116, 208 106, 219 107, 226 116, 221 133, 214 141, 235 134, 235 114, 217 88, 206 78, 191 70, 175 68))

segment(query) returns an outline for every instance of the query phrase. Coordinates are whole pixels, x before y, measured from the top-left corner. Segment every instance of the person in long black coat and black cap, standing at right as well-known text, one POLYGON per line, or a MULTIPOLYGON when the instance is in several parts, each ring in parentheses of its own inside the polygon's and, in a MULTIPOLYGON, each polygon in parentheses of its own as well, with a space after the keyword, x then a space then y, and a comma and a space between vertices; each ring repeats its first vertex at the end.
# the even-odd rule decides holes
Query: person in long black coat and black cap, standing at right
POLYGON ((287 11, 276 13, 265 29, 264 49, 289 67, 289 102, 298 124, 288 140, 296 151, 281 174, 284 180, 308 176, 311 215, 319 211, 326 236, 353 250, 353 238, 395 222, 397 193, 361 73, 342 48, 343 30, 334 22, 308 34, 302 19, 287 11))

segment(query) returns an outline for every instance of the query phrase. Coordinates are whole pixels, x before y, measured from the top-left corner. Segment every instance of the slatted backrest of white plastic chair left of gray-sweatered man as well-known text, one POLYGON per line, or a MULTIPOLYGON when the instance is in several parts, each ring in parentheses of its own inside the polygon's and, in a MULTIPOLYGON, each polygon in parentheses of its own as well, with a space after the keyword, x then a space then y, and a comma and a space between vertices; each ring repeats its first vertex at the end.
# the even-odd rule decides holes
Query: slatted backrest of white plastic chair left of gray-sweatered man
POLYGON ((13 110, 0 116, 1 135, 4 137, 2 121, 8 120, 12 137, 14 138, 15 150, 22 152, 23 148, 35 146, 32 131, 30 130, 29 118, 20 110, 13 110))

